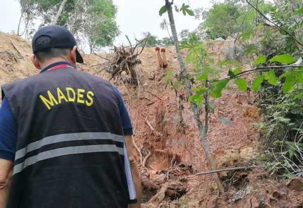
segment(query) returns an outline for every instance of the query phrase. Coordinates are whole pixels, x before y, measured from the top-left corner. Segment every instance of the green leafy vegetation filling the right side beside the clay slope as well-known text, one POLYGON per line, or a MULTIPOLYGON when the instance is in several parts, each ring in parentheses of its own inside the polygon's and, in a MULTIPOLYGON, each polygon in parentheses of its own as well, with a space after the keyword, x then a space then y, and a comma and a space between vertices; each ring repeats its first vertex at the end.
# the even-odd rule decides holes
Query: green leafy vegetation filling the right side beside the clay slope
MULTIPOLYGON (((166 7, 168 5, 166 1, 166 7)), ((195 11, 195 16, 204 20, 195 35, 205 39, 230 36, 234 39, 232 47, 243 49, 246 60, 250 59, 251 69, 248 70, 242 65, 249 64, 247 61, 240 63, 241 60, 227 59, 215 63, 200 38, 189 38, 188 30, 179 35, 182 39, 179 49, 188 51, 186 64, 194 67, 193 73, 183 75, 183 85, 191 90, 188 101, 205 109, 206 130, 208 113, 214 108, 210 97, 221 97, 229 82, 234 82, 243 92, 251 89, 257 94, 256 103, 264 115, 264 122, 256 126, 263 131, 266 162, 272 171, 287 177, 301 174, 303 163, 302 8, 303 3, 297 0, 274 4, 226 0, 214 4, 209 11, 195 11), (219 74, 221 69, 228 69, 224 78, 219 74), (249 86, 246 75, 251 73, 255 77, 249 86), (184 78, 192 85, 188 86, 184 78)), ((162 8, 159 13, 164 12, 166 10, 162 8)), ((179 62, 182 67, 182 58, 179 62)), ((225 118, 220 120, 230 123, 225 118)))

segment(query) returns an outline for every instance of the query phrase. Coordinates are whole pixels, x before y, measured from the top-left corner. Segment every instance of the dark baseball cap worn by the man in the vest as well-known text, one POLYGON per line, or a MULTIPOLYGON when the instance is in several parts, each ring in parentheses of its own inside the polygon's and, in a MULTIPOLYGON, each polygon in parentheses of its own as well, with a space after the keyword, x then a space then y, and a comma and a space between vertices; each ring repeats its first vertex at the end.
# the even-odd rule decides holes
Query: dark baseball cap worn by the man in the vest
MULTIPOLYGON (((74 35, 65 27, 59 25, 49 25, 40 28, 34 34, 32 39, 32 49, 34 54, 44 49, 73 48, 76 45, 74 35), (37 43, 37 38, 41 36, 48 38, 45 38, 45 41, 42 40, 37 43)), ((83 58, 78 50, 76 50, 76 62, 83 63, 83 58)))

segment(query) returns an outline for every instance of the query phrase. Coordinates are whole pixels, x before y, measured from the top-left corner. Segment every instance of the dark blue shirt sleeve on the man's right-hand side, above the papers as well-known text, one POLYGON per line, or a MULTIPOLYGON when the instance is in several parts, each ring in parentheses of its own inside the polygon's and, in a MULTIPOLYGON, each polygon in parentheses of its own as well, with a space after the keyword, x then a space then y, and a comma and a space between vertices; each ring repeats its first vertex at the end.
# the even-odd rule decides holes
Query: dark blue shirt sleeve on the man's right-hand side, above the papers
POLYGON ((120 109, 120 115, 121 115, 121 121, 122 121, 122 128, 124 135, 132 135, 132 125, 131 125, 131 120, 127 111, 126 106, 124 105, 124 102, 122 100, 121 94, 118 91, 117 88, 114 87, 115 93, 118 97, 119 100, 119 109, 120 109))

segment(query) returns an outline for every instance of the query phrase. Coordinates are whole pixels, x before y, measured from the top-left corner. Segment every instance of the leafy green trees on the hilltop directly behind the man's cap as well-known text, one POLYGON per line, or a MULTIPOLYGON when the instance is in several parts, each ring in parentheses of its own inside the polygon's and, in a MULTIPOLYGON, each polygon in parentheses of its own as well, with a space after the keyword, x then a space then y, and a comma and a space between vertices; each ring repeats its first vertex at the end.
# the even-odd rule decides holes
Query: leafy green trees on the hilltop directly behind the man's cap
MULTIPOLYGON (((65 26, 82 42, 86 40, 91 52, 112 45, 120 34, 116 23, 117 8, 112 0, 19 0, 19 3, 20 19, 30 22, 33 17, 41 17, 43 22, 39 27, 65 26)), ((29 23, 26 25, 31 31, 29 23)))

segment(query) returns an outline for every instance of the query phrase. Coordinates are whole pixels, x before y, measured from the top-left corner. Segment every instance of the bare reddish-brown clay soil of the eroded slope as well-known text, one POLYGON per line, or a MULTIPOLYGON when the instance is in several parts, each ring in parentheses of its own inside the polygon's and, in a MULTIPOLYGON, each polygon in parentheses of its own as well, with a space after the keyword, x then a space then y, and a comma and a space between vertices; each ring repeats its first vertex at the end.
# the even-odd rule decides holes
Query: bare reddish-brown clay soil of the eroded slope
MULTIPOLYGON (((218 54, 216 61, 224 60, 222 51, 226 44, 218 41, 210 50, 218 54)), ((28 41, 0 33, 1 85, 38 72, 30 63, 30 53, 28 41)), ((165 70, 173 69, 178 73, 174 48, 166 47, 166 53, 169 65, 165 70)), ((134 140, 142 153, 141 159, 137 151, 145 207, 302 207, 303 191, 301 186, 296 186, 303 183, 301 178, 286 186, 285 182, 278 183, 275 178, 270 178, 262 169, 222 173, 220 177, 227 192, 218 196, 212 176, 194 176, 194 173, 208 171, 209 165, 189 103, 184 99, 184 129, 179 123, 175 91, 166 85, 165 80, 158 81, 165 71, 162 72, 157 65, 155 49, 144 49, 139 58, 142 61, 137 67, 139 88, 121 80, 112 83, 118 87, 128 106, 134 140)), ((102 70, 105 60, 84 55, 84 61, 78 65, 79 70, 110 78, 110 74, 102 70)), ((236 90, 233 85, 229 88, 220 99, 212 100, 215 111, 209 121, 208 139, 218 169, 245 165, 258 155, 260 134, 251 122, 261 120, 259 110, 251 104, 251 95, 236 90), (233 124, 221 123, 220 117, 233 124)), ((179 89, 181 92, 183 90, 179 89)))

